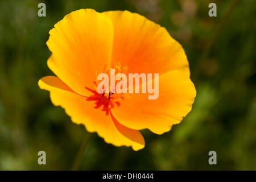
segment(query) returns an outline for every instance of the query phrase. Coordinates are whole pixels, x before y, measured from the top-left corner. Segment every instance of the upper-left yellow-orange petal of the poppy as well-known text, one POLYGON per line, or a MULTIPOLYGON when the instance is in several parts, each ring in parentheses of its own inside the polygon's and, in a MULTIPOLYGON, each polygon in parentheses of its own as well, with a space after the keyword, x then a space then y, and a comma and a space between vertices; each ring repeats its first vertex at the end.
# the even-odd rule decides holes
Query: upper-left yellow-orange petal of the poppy
POLYGON ((96 75, 110 64, 113 42, 111 20, 91 9, 66 15, 49 31, 52 52, 48 67, 76 93, 88 96, 96 75))

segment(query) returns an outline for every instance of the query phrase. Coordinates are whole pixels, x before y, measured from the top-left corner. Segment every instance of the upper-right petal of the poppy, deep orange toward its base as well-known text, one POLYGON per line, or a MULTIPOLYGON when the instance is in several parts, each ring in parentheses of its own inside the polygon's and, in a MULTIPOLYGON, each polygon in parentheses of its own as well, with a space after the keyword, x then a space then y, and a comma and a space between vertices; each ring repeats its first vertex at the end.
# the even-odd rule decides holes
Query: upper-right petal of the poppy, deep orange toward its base
MULTIPOLYGON (((127 65, 129 73, 166 73, 188 67, 183 48, 165 28, 129 11, 106 11, 112 19, 114 61, 127 65)), ((187 72, 189 74, 189 72, 187 72)))

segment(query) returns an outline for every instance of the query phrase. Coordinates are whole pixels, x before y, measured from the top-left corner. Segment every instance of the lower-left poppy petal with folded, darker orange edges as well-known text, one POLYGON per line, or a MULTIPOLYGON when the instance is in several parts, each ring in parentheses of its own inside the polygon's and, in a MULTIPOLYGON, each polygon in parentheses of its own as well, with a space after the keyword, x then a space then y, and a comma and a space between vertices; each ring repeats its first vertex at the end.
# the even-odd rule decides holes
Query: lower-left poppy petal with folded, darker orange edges
POLYGON ((86 101, 86 97, 73 92, 58 77, 43 77, 38 85, 50 92, 52 103, 63 107, 73 122, 84 125, 89 132, 97 132, 106 143, 131 146, 136 151, 144 147, 144 138, 138 130, 121 125, 112 115, 106 115, 101 109, 94 109, 93 101, 86 101))

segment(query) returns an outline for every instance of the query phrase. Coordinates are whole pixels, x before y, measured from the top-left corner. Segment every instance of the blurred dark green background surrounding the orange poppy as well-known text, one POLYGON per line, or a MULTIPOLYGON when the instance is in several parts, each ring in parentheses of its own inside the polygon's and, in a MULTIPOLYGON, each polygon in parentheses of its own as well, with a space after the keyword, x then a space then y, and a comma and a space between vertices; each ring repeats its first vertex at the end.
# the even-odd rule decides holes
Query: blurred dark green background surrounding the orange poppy
POLYGON ((71 11, 129 10, 166 27, 185 49, 197 89, 191 113, 163 135, 143 130, 138 152, 93 134, 79 169, 256 169, 254 0, 0 1, 0 169, 69 170, 83 140, 61 107, 40 90, 53 75, 48 31, 71 11), (46 17, 38 3, 46 3, 46 17), (217 17, 208 16, 210 2, 217 17), (46 165, 38 151, 46 151, 46 165), (208 152, 217 152, 217 165, 208 152))

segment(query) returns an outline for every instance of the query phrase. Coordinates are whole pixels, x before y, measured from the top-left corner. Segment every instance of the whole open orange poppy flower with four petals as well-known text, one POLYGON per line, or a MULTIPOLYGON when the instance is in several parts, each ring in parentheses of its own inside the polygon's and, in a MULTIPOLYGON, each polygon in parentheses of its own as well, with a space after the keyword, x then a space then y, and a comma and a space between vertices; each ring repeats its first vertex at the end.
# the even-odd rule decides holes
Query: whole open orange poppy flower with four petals
POLYGON ((48 67, 56 76, 39 80, 77 124, 115 146, 144 147, 138 130, 170 131, 191 110, 196 96, 183 48, 165 28, 129 11, 73 11, 49 31, 48 67), (159 73, 159 97, 97 92, 96 75, 120 72, 159 73))

